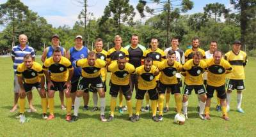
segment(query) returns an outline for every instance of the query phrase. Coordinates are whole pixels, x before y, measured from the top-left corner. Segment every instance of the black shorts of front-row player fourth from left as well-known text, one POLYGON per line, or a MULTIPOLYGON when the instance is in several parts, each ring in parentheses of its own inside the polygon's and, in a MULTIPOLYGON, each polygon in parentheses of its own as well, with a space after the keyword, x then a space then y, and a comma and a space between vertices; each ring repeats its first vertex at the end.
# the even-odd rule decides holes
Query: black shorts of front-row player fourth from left
POLYGON ((111 94, 111 96, 113 96, 113 97, 117 97, 118 92, 120 90, 122 90, 125 97, 131 96, 130 84, 128 84, 128 85, 116 85, 114 83, 111 83, 109 94, 111 94))

